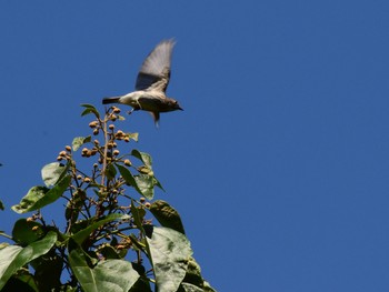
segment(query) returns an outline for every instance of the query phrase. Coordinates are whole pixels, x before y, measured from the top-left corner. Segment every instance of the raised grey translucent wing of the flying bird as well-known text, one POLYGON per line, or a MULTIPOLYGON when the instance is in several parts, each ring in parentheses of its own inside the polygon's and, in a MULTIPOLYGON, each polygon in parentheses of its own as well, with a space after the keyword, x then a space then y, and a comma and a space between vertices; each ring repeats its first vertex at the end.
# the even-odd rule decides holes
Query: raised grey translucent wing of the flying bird
POLYGON ((137 90, 166 91, 170 79, 171 52, 173 40, 164 40, 149 53, 138 73, 137 90))

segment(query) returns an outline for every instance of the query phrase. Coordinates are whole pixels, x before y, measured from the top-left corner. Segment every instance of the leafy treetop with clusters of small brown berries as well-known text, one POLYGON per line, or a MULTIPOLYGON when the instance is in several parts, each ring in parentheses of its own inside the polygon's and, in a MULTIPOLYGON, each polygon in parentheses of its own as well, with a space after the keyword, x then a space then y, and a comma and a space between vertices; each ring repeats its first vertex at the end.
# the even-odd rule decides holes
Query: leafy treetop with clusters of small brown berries
POLYGON ((154 188, 163 188, 151 157, 136 149, 121 154, 119 145, 138 134, 116 130, 120 109, 102 117, 93 105, 82 107, 81 115, 94 119, 92 134, 74 138, 43 167, 44 185, 12 207, 32 213, 14 223, 12 235, 0 232, 13 241, 0 244, 0 290, 215 291, 192 258, 178 212, 152 201, 154 188), (64 205, 62 228, 43 215, 57 201, 64 205))

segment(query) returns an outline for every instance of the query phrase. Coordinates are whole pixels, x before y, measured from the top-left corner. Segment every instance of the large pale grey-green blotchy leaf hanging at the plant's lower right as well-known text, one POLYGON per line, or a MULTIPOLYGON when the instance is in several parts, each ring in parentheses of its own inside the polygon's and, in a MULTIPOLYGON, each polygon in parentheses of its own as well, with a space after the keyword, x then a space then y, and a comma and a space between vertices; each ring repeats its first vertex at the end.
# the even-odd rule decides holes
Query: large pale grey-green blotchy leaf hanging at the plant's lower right
POLYGON ((158 291, 177 291, 192 255, 190 242, 182 233, 169 229, 143 225, 158 291))

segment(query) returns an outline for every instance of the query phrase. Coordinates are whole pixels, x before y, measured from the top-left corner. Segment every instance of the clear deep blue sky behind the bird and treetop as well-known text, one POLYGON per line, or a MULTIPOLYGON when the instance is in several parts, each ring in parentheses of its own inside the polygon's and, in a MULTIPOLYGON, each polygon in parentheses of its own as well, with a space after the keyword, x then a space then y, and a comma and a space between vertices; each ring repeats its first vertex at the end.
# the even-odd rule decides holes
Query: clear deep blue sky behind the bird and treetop
MULTIPOLYGON (((184 111, 122 128, 140 132, 205 278, 389 290, 388 1, 1 1, 0 36, 8 208, 89 133, 79 104, 131 91, 174 37, 168 93, 184 111)), ((0 229, 16 218, 0 212, 0 229)))

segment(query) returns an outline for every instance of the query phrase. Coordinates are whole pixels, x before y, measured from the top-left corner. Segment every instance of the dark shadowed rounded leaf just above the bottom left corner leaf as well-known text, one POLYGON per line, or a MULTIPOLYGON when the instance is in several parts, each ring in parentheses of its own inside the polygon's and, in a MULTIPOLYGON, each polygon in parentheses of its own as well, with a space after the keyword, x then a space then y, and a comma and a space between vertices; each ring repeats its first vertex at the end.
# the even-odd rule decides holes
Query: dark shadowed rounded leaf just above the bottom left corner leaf
POLYGON ((12 229, 12 239, 22 246, 41 239, 42 235, 42 224, 27 219, 19 219, 12 229))

